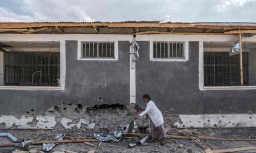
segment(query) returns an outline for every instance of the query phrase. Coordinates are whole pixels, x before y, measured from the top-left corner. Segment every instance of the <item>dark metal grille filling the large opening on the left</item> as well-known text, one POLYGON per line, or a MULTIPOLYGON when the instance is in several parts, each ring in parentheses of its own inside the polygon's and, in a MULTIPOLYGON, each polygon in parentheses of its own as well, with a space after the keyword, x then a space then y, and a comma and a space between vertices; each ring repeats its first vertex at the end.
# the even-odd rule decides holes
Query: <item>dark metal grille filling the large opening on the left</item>
POLYGON ((5 86, 60 86, 60 52, 5 53, 5 86))

